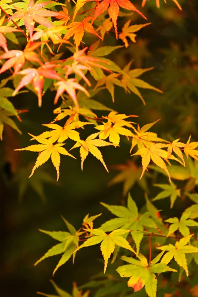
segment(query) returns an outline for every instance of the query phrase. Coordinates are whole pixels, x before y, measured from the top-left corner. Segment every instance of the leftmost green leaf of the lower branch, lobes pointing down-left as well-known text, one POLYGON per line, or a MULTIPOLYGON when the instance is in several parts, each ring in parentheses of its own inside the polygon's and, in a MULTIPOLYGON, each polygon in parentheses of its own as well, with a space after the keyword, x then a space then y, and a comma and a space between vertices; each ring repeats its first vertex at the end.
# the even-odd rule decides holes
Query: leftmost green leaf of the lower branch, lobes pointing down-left
POLYGON ((76 231, 76 229, 68 223, 64 218, 63 218, 67 229, 69 232, 62 232, 62 231, 45 231, 45 230, 40 230, 43 233, 48 234, 55 240, 59 241, 60 243, 51 247, 43 257, 41 257, 34 265, 37 265, 44 259, 58 255, 63 253, 62 257, 60 258, 58 264, 56 265, 53 275, 56 272, 56 270, 63 265, 66 261, 69 260, 69 258, 73 255, 73 261, 75 258, 75 250, 78 248, 78 243, 79 243, 79 236, 82 235, 84 232, 79 232, 76 231))

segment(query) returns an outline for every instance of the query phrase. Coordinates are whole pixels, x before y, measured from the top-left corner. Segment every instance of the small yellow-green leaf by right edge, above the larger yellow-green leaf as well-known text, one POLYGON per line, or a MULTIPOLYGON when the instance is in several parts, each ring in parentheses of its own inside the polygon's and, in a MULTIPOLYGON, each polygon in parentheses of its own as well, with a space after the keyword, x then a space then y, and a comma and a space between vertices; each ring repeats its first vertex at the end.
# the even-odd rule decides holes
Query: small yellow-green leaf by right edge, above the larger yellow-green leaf
POLYGON ((177 230, 179 230, 179 232, 183 236, 190 235, 188 226, 191 226, 191 227, 198 226, 198 223, 196 221, 189 219, 190 215, 191 215, 191 213, 188 212, 188 213, 183 213, 180 220, 176 217, 165 220, 165 222, 171 223, 169 230, 168 230, 167 237, 177 230))

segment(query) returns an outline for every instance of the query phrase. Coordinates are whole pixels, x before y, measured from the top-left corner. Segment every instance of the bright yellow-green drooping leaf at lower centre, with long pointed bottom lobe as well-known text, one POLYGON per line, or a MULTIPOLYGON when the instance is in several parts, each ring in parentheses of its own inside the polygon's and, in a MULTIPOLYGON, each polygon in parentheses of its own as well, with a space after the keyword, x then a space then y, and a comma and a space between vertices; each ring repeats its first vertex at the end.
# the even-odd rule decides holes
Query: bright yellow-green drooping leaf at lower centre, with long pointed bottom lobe
POLYGON ((90 247, 101 243, 100 250, 104 258, 105 273, 108 259, 110 258, 111 253, 114 251, 115 245, 129 249, 136 254, 135 250, 129 245, 128 241, 122 237, 122 235, 125 233, 128 233, 128 230, 113 230, 110 234, 106 234, 101 229, 93 229, 91 238, 86 240, 86 242, 84 242, 84 244, 82 244, 79 248, 90 247))

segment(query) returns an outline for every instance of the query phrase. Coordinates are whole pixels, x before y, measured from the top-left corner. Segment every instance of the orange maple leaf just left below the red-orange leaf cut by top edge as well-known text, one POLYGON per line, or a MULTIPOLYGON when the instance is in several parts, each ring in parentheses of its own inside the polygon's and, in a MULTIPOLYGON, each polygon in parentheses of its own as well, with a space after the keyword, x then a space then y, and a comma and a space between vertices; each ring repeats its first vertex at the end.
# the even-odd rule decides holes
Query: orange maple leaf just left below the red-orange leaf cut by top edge
POLYGON ((74 44, 77 49, 83 39, 84 31, 95 34, 101 39, 99 34, 94 30, 94 27, 89 23, 91 19, 91 17, 85 17, 82 22, 73 22, 70 25, 66 26, 66 29, 68 29, 68 31, 63 39, 67 40, 74 35, 74 44))

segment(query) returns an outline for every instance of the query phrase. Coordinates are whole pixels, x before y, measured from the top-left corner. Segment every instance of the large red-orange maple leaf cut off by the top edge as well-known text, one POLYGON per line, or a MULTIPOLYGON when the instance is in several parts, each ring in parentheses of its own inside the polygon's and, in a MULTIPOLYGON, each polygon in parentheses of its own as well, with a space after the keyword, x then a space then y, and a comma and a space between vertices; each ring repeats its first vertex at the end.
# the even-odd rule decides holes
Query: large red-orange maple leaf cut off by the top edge
POLYGON ((117 18, 119 15, 120 7, 128 10, 133 10, 138 12, 140 15, 142 15, 145 19, 147 19, 144 14, 142 14, 134 4, 132 4, 129 0, 101 0, 99 5, 95 9, 95 14, 93 17, 92 22, 100 15, 102 14, 106 9, 108 9, 108 14, 110 19, 113 22, 113 26, 115 28, 115 36, 116 39, 118 38, 118 32, 117 32, 117 18))

